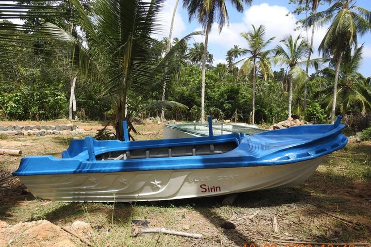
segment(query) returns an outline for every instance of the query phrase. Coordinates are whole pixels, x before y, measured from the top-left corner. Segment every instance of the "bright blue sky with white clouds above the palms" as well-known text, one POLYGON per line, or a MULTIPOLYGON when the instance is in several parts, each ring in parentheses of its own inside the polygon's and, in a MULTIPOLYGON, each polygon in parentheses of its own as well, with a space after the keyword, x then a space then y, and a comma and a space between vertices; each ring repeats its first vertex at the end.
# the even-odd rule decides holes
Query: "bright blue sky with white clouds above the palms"
MULTIPOLYGON (((227 50, 233 47, 234 44, 240 47, 246 47, 246 41, 240 37, 241 31, 249 31, 252 29, 251 24, 259 26, 263 24, 266 27, 266 37, 275 36, 276 39, 272 42, 271 47, 275 46, 285 34, 293 34, 297 36, 299 33, 306 36, 305 31, 297 30, 296 21, 304 16, 293 16, 288 13, 296 8, 294 4, 288 4, 289 0, 254 0, 252 6, 245 6, 243 13, 236 11, 231 4, 227 4, 227 10, 230 18, 230 25, 224 26, 219 34, 216 24, 214 24, 209 37, 209 52, 214 56, 214 65, 217 63, 225 63, 227 50)), ((170 29, 171 15, 173 13, 175 0, 168 0, 162 10, 162 23, 164 24, 164 36, 168 36, 170 29)), ((358 6, 365 7, 371 10, 370 0, 358 0, 358 6)), ((319 10, 326 9, 326 5, 319 7, 319 10)), ((321 42, 327 27, 316 29, 314 38, 314 54, 312 57, 318 57, 316 50, 321 42)), ((175 16, 173 37, 183 37, 185 34, 195 30, 201 30, 201 26, 196 20, 188 23, 188 14, 183 9, 182 1, 179 1, 177 13, 175 16)), ((309 30, 309 36, 311 30, 309 30)), ((194 37, 194 41, 203 42, 204 37, 194 37)), ((190 43, 194 42, 193 40, 190 43)), ((358 44, 364 43, 363 62, 359 72, 364 76, 371 76, 371 33, 365 34, 363 37, 358 37, 358 44)))

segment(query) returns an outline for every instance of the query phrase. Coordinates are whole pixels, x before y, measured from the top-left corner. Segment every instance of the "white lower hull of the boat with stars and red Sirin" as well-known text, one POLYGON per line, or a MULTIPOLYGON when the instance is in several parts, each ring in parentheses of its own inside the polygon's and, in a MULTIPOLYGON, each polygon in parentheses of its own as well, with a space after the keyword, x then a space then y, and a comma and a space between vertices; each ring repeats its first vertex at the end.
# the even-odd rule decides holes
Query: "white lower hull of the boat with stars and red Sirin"
POLYGON ((324 160, 239 168, 20 176, 35 197, 55 201, 147 201, 219 196, 302 183, 324 160))

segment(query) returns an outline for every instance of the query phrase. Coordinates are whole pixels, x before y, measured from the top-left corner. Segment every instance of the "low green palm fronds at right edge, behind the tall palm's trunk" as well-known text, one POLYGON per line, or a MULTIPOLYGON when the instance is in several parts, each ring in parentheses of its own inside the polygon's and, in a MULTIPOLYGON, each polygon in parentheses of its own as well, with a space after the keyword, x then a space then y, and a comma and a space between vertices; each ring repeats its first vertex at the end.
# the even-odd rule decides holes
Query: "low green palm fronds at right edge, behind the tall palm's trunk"
MULTIPOLYGON (((339 71, 338 90, 336 97, 340 103, 340 112, 346 114, 351 107, 358 107, 362 113, 371 109, 371 85, 367 78, 358 73, 357 70, 362 62, 363 46, 351 49, 342 56, 342 63, 339 71)), ((329 79, 335 78, 336 62, 331 61, 330 66, 319 73, 329 79)), ((321 91, 324 94, 323 102, 326 104, 326 110, 331 109, 333 95, 331 88, 325 88, 321 91)))

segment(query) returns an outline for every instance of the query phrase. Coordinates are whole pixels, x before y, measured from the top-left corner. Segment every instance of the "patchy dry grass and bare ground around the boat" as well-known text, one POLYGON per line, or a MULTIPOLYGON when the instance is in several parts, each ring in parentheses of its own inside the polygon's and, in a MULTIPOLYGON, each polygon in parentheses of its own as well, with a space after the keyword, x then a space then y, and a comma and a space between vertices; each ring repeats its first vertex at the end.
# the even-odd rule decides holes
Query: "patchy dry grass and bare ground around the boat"
MULTIPOLYGON (((162 126, 139 125, 139 132, 158 131, 154 136, 136 136, 137 140, 161 138, 162 126)), ((9 137, 0 146, 22 148, 25 155, 51 154, 60 157, 71 136, 9 137)), ((0 170, 15 170, 20 157, 0 156, 0 170)), ((0 220, 9 224, 45 219, 66 226, 82 220, 93 227, 89 240, 94 246, 243 246, 277 241, 355 243, 371 241, 371 142, 349 143, 346 148, 326 157, 313 175, 299 186, 240 193, 233 206, 222 206, 223 197, 191 198, 138 203, 62 203, 33 198, 22 184, 0 189, 0 220), (331 213, 336 217, 332 217, 331 213), (233 217, 251 216, 234 221, 236 229, 220 224, 233 217), (275 233, 272 218, 279 231, 275 233), (150 226, 190 233, 202 233, 195 240, 164 234, 130 237, 131 220, 147 218, 150 226), (354 221, 357 224, 348 223, 354 221)), ((17 246, 14 243, 14 246, 17 246)), ((334 245, 335 246, 335 245, 334 245)))

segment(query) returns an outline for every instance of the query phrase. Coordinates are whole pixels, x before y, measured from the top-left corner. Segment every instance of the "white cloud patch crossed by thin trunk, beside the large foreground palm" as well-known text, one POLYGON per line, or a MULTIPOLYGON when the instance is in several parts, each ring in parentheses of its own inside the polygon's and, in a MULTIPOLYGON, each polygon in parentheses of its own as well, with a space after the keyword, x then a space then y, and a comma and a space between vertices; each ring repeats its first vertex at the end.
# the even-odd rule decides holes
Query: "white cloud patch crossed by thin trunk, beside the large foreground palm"
MULTIPOLYGON (((183 37, 183 32, 186 29, 185 23, 182 19, 182 16, 180 14, 180 9, 182 3, 179 1, 177 11, 175 13, 175 18, 174 18, 174 26, 173 26, 173 34, 172 34, 172 39, 177 37, 181 38, 183 37)), ((162 39, 162 37, 169 36, 170 32, 170 24, 171 24, 171 19, 173 18, 173 11, 174 11, 174 6, 175 6, 175 0, 168 0, 164 3, 161 12, 158 15, 158 18, 160 19, 160 24, 161 24, 161 33, 155 35, 156 38, 162 39)))

